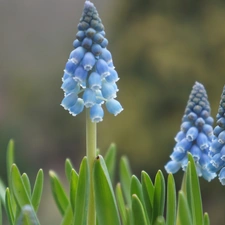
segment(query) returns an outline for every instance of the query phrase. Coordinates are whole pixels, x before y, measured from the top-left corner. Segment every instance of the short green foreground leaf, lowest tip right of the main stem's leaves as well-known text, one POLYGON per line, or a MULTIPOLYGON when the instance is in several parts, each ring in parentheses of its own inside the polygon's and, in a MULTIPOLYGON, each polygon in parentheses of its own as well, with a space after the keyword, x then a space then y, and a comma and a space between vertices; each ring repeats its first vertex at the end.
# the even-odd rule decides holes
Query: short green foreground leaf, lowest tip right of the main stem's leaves
POLYGON ((148 225, 144 207, 137 195, 132 195, 134 225, 148 225))

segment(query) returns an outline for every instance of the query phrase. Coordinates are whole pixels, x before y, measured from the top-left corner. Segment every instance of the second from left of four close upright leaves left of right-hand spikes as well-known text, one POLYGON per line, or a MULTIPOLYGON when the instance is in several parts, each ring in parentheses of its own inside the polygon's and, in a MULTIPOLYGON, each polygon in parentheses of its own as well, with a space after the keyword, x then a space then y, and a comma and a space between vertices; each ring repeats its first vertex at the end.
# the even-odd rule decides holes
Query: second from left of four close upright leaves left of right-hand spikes
POLYGON ((144 202, 145 202, 148 218, 149 218, 149 221, 152 221, 155 188, 153 186, 151 178, 145 171, 141 172, 141 184, 142 184, 142 193, 144 196, 144 202))

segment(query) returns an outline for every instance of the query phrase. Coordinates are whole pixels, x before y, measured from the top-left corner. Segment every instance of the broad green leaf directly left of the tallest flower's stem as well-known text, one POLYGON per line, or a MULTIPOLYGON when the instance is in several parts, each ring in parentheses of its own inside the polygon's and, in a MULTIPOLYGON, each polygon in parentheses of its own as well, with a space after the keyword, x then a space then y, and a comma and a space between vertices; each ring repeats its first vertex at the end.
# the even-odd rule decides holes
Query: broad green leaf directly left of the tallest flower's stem
POLYGON ((77 193, 75 199, 74 225, 86 225, 89 197, 89 168, 87 157, 84 157, 79 171, 77 193))

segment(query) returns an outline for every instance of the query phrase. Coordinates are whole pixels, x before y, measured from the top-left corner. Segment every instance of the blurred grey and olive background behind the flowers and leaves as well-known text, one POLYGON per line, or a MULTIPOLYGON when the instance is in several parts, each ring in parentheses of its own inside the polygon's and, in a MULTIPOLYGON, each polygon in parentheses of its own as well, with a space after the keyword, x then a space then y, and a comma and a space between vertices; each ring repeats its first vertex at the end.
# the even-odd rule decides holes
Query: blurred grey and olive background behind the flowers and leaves
MULTIPOLYGON (((48 171, 64 176, 69 157, 76 169, 85 155, 85 115, 61 106, 61 77, 77 32, 84 1, 0 0, 0 176, 6 181, 5 150, 16 144, 21 172, 45 172, 41 224, 59 224, 48 171)), ((98 147, 111 142, 127 155, 133 172, 152 176, 164 165, 195 81, 204 84, 215 117, 225 84, 225 2, 211 0, 95 0, 108 48, 120 76, 124 111, 106 113, 98 147)), ((175 175, 180 188, 182 172, 175 175)), ((204 211, 225 223, 225 187, 200 179, 204 211)))

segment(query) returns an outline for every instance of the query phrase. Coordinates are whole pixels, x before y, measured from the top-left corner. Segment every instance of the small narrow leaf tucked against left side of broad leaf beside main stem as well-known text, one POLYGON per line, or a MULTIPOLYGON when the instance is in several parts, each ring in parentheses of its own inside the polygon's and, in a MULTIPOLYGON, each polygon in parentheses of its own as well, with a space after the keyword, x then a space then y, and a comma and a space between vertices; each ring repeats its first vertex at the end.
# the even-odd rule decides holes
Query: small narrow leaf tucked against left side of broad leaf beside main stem
POLYGON ((75 210, 78 179, 79 179, 79 176, 77 172, 74 169, 72 169, 71 175, 70 175, 70 204, 71 204, 73 212, 75 210))

